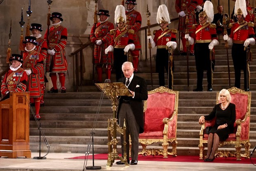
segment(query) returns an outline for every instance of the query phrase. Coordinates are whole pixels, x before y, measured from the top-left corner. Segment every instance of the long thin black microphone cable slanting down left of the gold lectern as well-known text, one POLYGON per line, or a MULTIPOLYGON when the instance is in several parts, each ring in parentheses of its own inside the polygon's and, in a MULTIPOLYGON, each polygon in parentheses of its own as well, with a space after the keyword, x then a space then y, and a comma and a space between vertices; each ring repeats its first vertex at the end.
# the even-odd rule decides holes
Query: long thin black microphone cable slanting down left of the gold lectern
POLYGON ((106 79, 104 81, 104 88, 103 88, 103 91, 102 91, 101 96, 100 96, 100 102, 99 102, 97 112, 96 112, 96 116, 95 116, 95 119, 94 119, 94 122, 93 122, 92 131, 91 131, 91 135, 90 135, 90 138, 89 138, 89 143, 87 145, 87 149, 86 149, 86 152, 85 152, 85 160, 84 160, 84 163, 83 163, 83 171, 85 171, 85 168, 87 166, 88 156, 89 156, 89 153, 90 153, 90 148, 92 146, 91 138, 92 138, 92 134, 94 134, 93 131, 95 131, 96 123, 97 123, 98 116, 99 116, 99 113, 100 113, 100 108, 102 106, 102 101, 103 101, 103 97, 104 97, 104 89, 106 89, 106 87, 108 85, 107 83, 110 83, 110 82, 111 82, 110 79, 106 79))

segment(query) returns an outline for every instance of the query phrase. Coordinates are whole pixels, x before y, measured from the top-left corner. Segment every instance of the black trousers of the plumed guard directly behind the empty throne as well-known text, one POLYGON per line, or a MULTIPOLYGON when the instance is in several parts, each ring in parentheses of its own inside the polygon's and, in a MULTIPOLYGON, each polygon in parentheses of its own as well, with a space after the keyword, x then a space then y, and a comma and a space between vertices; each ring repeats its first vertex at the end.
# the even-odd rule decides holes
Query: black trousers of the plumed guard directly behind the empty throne
MULTIPOLYGON (((168 50, 164 48, 158 48, 156 50, 156 72, 159 77, 159 86, 165 86, 164 82, 164 69, 167 74, 169 73, 169 87, 168 89, 173 89, 173 75, 171 74, 171 64, 168 68, 169 53, 168 50)), ((172 66, 172 71, 174 70, 174 61, 172 66)))

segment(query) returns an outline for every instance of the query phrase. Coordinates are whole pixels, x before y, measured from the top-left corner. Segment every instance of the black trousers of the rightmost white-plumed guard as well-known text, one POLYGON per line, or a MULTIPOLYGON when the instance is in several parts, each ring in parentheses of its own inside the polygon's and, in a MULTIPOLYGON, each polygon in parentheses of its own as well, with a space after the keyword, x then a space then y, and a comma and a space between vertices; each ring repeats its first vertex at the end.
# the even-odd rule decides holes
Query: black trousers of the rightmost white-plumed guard
POLYGON ((240 89, 241 70, 243 70, 244 71, 244 89, 247 89, 247 85, 249 88, 250 72, 249 72, 249 65, 247 66, 247 55, 246 55, 246 51, 244 51, 244 44, 233 43, 232 59, 233 59, 233 64, 235 69, 235 87, 240 89))

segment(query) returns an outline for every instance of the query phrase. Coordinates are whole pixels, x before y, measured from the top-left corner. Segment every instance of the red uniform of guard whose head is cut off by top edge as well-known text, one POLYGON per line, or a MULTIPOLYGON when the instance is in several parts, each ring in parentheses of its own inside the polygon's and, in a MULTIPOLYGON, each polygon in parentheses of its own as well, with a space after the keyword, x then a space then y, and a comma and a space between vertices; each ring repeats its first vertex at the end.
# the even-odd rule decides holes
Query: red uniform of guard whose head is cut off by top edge
MULTIPOLYGON (((186 39, 185 39, 185 33, 186 28, 188 28, 188 31, 190 33, 191 37, 194 37, 194 31, 192 29, 192 25, 196 23, 196 14, 195 9, 197 8, 197 0, 175 0, 175 9, 177 13, 180 13, 182 11, 187 14, 188 17, 188 26, 186 26, 186 16, 179 16, 179 26, 178 30, 181 32, 181 40, 183 45, 183 51, 187 52, 186 49, 186 39)), ((190 53, 193 53, 194 51, 194 45, 190 46, 190 53)))

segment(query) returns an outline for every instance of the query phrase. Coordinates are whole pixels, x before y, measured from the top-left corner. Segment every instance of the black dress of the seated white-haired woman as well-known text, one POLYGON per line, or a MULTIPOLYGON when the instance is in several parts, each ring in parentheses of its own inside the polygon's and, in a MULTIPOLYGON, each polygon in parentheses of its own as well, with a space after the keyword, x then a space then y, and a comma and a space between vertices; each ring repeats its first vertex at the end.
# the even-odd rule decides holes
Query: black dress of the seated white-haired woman
POLYGON ((233 133, 234 131, 234 122, 235 122, 235 104, 229 103, 228 107, 225 110, 220 108, 221 103, 215 105, 211 113, 205 117, 205 120, 211 120, 216 117, 215 125, 211 128, 210 133, 216 133, 220 141, 224 141, 228 138, 228 134, 233 133), (227 124, 228 127, 223 129, 218 129, 218 126, 227 124))

